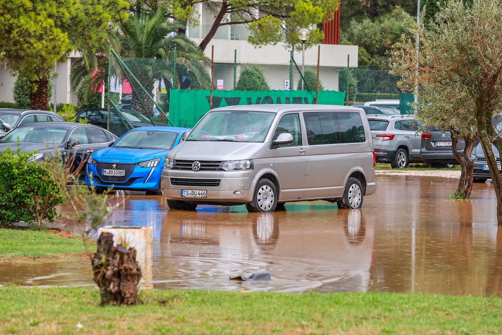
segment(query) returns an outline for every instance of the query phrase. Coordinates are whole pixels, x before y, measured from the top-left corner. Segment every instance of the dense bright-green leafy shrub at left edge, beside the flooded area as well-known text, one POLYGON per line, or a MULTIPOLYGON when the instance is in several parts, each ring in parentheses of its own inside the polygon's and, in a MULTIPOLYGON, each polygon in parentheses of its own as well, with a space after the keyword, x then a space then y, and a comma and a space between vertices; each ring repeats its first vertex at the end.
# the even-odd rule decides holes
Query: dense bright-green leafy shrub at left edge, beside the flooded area
POLYGON ((0 222, 50 222, 57 217, 56 206, 64 202, 61 189, 52 178, 44 161, 29 161, 33 153, 12 151, 0 153, 0 222))

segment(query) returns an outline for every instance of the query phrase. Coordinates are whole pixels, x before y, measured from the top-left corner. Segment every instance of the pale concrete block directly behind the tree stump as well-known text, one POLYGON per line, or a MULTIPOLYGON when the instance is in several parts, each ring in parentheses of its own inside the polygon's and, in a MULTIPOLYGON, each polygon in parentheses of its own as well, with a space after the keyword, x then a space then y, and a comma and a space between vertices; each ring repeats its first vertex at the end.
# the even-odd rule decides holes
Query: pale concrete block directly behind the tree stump
POLYGON ((113 245, 117 242, 125 242, 128 248, 135 248, 136 261, 141 268, 142 277, 140 288, 153 288, 153 230, 152 227, 117 227, 105 226, 98 229, 98 237, 101 233, 113 234, 113 245))

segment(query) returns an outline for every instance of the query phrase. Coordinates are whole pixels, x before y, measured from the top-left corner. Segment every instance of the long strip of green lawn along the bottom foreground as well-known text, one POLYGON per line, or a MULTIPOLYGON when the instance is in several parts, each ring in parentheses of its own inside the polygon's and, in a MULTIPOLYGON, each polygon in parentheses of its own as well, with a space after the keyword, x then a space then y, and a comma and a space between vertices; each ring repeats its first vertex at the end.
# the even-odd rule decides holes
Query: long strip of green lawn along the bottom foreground
POLYGON ((98 307, 94 288, 0 287, 0 333, 500 333, 502 299, 401 293, 147 290, 98 307), (77 324, 81 324, 77 331, 77 324))

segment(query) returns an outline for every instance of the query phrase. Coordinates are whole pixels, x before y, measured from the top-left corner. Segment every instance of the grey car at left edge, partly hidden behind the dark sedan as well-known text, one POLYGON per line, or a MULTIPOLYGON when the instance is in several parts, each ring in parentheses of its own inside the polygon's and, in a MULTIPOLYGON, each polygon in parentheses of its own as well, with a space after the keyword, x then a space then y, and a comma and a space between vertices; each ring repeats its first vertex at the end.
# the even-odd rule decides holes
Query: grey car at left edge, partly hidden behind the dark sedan
POLYGON ((0 108, 0 135, 30 122, 64 121, 60 115, 47 110, 0 108))

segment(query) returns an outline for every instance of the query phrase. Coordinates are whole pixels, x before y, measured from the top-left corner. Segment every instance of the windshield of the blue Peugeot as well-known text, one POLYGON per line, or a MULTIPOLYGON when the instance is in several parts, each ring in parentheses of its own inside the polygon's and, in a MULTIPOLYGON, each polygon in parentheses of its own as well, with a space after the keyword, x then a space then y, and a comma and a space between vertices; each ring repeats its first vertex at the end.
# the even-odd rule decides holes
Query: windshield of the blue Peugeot
POLYGON ((178 135, 160 130, 132 130, 122 136, 113 148, 171 150, 178 135))

